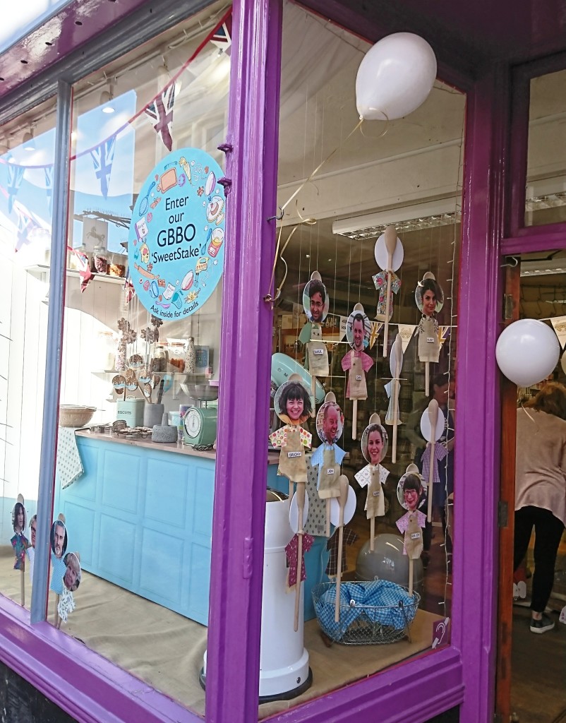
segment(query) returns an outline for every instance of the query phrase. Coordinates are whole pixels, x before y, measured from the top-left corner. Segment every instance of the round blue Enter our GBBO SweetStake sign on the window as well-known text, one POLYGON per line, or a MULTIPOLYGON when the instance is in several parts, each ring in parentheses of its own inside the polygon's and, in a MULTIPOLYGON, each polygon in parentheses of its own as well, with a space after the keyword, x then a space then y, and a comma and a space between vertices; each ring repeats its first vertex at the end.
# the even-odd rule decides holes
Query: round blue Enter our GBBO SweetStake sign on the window
POLYGON ((169 153, 137 197, 128 236, 129 275, 143 306, 176 320, 213 293, 224 265, 223 171, 200 148, 169 153))

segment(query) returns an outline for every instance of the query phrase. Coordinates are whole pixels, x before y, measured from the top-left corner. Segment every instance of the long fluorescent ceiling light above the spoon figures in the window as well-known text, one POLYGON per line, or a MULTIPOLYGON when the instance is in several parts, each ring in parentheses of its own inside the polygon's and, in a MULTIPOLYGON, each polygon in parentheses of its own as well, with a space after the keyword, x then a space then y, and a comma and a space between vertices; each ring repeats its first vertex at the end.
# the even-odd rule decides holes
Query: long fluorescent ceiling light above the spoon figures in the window
POLYGON ((460 222, 460 197, 453 196, 439 201, 416 203, 376 213, 366 213, 334 221, 334 234, 351 239, 377 237, 385 226, 395 224, 397 231, 413 231, 418 228, 447 226, 460 222))

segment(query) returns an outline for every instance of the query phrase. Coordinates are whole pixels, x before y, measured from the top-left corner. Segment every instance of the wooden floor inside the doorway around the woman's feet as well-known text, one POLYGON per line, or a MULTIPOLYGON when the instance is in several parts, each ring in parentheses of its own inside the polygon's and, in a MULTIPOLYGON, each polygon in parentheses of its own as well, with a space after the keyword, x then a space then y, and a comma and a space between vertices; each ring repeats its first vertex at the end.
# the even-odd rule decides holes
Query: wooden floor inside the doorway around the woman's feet
MULTIPOLYGON (((527 564, 533 569, 532 544, 527 564)), ((566 534, 556 569, 566 570, 566 534)), ((530 595, 530 580, 527 583, 530 595)), ((555 626, 543 635, 529 630, 530 609, 513 607, 511 710, 518 723, 566 723, 566 625, 558 621, 565 594, 566 579, 557 576, 548 606, 555 626)))

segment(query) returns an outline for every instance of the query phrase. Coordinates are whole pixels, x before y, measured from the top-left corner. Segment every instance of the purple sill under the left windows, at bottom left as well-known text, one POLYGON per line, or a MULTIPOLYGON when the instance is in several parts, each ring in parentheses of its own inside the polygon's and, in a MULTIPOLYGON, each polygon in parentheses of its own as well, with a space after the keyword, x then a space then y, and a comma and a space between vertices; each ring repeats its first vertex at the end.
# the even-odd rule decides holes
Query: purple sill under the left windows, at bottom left
POLYGON ((81 723, 202 719, 50 623, 0 597, 1 661, 81 723))

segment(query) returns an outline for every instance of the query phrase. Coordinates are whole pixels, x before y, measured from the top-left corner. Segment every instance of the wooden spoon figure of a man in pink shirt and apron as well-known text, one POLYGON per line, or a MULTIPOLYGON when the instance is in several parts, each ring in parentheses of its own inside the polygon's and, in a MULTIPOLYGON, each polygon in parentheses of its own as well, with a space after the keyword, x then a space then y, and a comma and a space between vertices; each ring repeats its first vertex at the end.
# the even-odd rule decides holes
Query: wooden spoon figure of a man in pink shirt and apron
POLYGON ((348 372, 346 397, 353 401, 353 440, 357 435, 358 400, 367 399, 366 372, 372 368, 374 363, 372 357, 364 351, 369 344, 371 329, 372 325, 366 317, 364 307, 361 304, 355 304, 346 322, 346 339, 352 349, 342 357, 342 370, 348 372))

